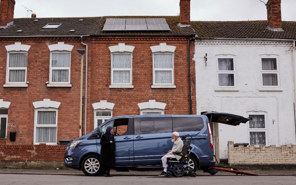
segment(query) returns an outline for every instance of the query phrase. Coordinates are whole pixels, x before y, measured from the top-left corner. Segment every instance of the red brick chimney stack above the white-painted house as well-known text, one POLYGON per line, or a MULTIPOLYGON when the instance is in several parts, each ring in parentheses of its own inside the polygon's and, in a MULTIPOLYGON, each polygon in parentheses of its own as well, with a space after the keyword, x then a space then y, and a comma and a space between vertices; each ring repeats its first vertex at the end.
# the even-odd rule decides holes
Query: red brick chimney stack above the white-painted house
POLYGON ((268 29, 272 31, 282 31, 281 22, 281 0, 268 0, 267 5, 268 29))

